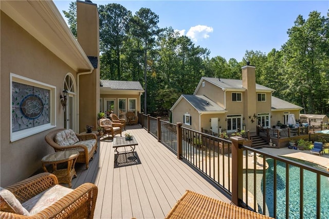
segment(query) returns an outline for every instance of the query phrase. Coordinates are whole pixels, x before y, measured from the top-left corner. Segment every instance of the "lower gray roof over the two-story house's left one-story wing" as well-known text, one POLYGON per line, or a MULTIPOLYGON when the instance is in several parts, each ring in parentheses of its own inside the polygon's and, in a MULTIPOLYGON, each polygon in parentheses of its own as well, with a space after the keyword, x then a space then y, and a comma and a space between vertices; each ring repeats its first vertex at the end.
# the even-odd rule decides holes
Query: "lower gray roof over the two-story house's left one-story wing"
POLYGON ((225 109, 217 105, 214 101, 210 100, 203 95, 182 95, 198 112, 211 112, 211 111, 224 111, 225 109))

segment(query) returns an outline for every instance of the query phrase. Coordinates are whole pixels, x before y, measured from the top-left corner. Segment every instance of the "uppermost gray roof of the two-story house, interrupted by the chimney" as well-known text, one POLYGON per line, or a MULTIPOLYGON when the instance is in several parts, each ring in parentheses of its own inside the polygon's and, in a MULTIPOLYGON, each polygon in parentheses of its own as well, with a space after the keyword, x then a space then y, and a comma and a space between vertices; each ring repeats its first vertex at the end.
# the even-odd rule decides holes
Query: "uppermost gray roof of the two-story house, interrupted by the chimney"
MULTIPOLYGON (((222 89, 243 89, 243 90, 245 89, 245 87, 242 86, 242 80, 221 78, 220 81, 218 80, 218 78, 207 78, 207 77, 203 77, 203 79, 209 81, 210 83, 218 87, 221 87, 222 89)), ((272 88, 265 87, 260 84, 256 84, 256 89, 274 91, 272 88)))

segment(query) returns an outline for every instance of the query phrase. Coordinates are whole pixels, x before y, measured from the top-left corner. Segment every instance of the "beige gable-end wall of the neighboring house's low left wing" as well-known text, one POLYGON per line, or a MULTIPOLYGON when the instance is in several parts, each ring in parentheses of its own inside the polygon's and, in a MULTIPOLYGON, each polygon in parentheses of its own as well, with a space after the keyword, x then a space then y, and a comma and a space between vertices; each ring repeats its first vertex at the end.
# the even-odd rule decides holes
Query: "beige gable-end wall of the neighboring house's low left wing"
POLYGON ((177 122, 182 122, 183 127, 187 127, 189 129, 200 131, 200 129, 199 129, 199 113, 184 98, 182 98, 180 100, 180 102, 177 104, 177 106, 175 107, 175 112, 173 113, 173 123, 177 123, 177 122), (190 116, 192 118, 191 125, 184 124, 183 116, 186 113, 190 114, 190 116))

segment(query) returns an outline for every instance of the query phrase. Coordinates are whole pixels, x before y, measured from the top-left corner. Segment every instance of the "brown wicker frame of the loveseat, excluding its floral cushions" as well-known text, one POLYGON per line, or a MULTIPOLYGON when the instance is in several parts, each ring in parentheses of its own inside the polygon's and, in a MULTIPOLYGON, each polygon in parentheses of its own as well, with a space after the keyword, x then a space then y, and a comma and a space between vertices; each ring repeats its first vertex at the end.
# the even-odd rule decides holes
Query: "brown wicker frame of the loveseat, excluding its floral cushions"
POLYGON ((75 133, 76 136, 78 137, 79 141, 86 141, 86 140, 91 140, 91 139, 96 139, 94 141, 94 145, 92 149, 88 151, 88 147, 84 144, 73 144, 69 146, 62 146, 59 145, 58 143, 55 142, 55 137, 58 132, 63 131, 66 129, 57 129, 49 132, 45 136, 46 142, 55 150, 55 152, 58 151, 67 151, 67 150, 76 150, 79 151, 79 156, 76 162, 78 163, 85 163, 86 164, 86 169, 89 167, 89 160, 94 158, 94 153, 97 152, 97 135, 94 133, 87 133, 87 134, 78 134, 75 133))

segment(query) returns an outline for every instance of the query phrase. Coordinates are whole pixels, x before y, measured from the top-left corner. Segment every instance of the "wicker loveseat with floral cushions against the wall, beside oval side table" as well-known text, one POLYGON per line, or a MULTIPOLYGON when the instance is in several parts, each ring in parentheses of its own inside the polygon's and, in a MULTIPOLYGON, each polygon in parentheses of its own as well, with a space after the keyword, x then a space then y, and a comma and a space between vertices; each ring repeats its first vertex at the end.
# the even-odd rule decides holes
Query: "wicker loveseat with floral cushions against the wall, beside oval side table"
POLYGON ((89 167, 89 160, 97 152, 97 135, 94 133, 78 134, 72 130, 57 129, 45 136, 47 143, 56 151, 75 150, 79 152, 76 162, 85 163, 89 167))

